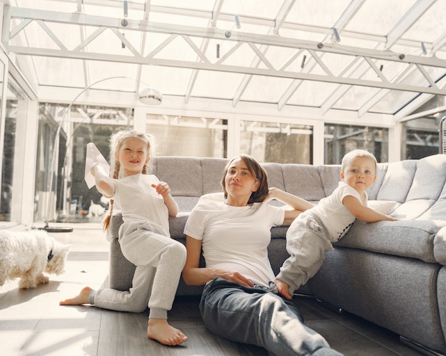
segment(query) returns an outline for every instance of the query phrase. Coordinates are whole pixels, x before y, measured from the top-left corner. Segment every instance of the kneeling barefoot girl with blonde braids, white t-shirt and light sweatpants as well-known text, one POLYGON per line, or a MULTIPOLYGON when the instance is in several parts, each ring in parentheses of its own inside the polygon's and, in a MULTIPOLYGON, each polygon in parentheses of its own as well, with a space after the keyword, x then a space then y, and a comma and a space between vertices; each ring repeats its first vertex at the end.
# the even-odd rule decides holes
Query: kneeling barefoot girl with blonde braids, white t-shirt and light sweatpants
MULTIPOLYGON (((111 136, 111 158, 116 161, 113 179, 94 164, 90 169, 97 190, 122 209, 124 223, 119 242, 122 254, 136 265, 129 291, 90 287, 61 305, 91 304, 122 312, 143 312, 150 308, 147 335, 164 345, 178 345, 187 337, 167 322, 180 274, 186 261, 182 243, 170 238, 168 216, 176 216, 178 206, 168 184, 146 173, 150 161, 150 136, 136 131, 118 131, 111 136)), ((113 167, 113 163, 112 163, 113 167)), ((110 217, 104 220, 108 228, 110 217)))

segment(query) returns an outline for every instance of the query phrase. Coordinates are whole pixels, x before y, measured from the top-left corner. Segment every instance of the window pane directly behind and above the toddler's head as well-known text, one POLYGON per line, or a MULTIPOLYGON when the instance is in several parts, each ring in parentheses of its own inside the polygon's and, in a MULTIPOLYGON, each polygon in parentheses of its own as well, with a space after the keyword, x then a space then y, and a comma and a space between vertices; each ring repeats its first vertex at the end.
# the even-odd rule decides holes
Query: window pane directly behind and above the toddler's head
POLYGON ((367 149, 379 162, 388 162, 388 129, 342 124, 324 126, 324 163, 340 164, 352 149, 367 149))

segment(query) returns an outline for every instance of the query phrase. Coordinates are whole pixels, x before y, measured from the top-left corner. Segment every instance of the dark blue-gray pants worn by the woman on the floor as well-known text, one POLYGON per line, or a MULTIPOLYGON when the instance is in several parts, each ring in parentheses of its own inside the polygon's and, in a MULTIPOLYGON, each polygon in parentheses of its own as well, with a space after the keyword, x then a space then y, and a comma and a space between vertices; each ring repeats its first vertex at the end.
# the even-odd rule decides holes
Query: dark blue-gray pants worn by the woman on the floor
POLYGON ((267 288, 216 277, 205 286, 200 312, 206 327, 219 337, 261 346, 274 355, 342 355, 303 324, 296 305, 267 288))

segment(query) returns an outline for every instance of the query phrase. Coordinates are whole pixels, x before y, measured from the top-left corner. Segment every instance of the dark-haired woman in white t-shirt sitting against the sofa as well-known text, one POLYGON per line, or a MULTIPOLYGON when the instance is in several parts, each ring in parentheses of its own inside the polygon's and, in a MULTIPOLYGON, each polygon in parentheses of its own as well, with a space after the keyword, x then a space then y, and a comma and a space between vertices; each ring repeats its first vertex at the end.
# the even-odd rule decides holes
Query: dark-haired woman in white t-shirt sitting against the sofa
POLYGON ((278 295, 268 259, 270 229, 289 225, 312 204, 268 188, 266 172, 250 156, 232 159, 223 174, 225 200, 202 197, 186 234, 186 284, 206 284, 200 312, 220 337, 262 346, 275 355, 341 355, 303 324, 294 303, 278 295), (292 207, 267 204, 276 199, 292 207), (200 252, 206 267, 200 268, 200 252))

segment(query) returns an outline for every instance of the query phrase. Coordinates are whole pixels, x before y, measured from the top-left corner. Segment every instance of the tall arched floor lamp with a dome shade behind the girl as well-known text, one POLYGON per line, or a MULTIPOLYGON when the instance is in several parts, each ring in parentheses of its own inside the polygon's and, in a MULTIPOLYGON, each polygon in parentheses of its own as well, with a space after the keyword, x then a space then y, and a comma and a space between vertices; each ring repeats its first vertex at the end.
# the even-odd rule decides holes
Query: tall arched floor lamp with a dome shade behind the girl
MULTIPOLYGON (((111 80, 111 79, 131 79, 133 81, 136 81, 136 83, 143 83, 142 81, 140 81, 138 79, 130 78, 128 76, 109 76, 107 78, 100 79, 99 81, 95 81, 95 83, 92 83, 89 86, 87 86, 86 88, 83 88, 83 90, 81 90, 81 92, 79 92, 79 94, 76 97, 74 97, 74 99, 72 100, 70 105, 67 107, 67 111, 63 115, 63 118, 62 118, 61 122, 59 123, 59 125, 57 127, 57 130, 56 130, 56 137, 54 138, 53 152, 51 154, 51 162, 50 162, 50 166, 49 166, 49 182, 48 182, 48 186, 47 186, 47 191, 49 193, 49 197, 47 199, 47 211, 46 211, 46 214, 45 214, 45 227, 43 227, 43 229, 46 230, 47 232, 72 232, 73 231, 72 227, 50 227, 49 226, 49 213, 50 213, 50 210, 51 210, 51 189, 53 187, 54 172, 56 172, 56 170, 57 170, 57 163, 56 163, 57 152, 56 152, 56 147, 58 147, 59 138, 60 138, 60 134, 61 134, 61 129, 62 129, 63 123, 65 122, 65 120, 67 118, 67 115, 70 113, 70 110, 71 110, 71 107, 73 106, 73 104, 77 101, 77 99, 79 99, 79 97, 84 92, 86 92, 88 89, 90 89, 93 86, 95 86, 97 83, 101 83, 102 81, 108 81, 108 80, 111 80)), ((146 85, 145 83, 143 83, 143 84, 146 85)), ((141 92, 138 93, 138 99, 143 104, 159 105, 159 104, 161 104, 161 101, 162 101, 162 95, 161 95, 161 92, 159 92, 157 89, 146 88, 145 90, 142 90, 141 92)), ((79 127, 79 125, 77 125, 77 127, 79 127)), ((66 162, 66 159, 67 159, 67 154, 68 154, 68 149, 70 147, 71 138, 72 138, 73 133, 76 130, 76 128, 74 128, 74 130, 72 131, 70 138, 67 139, 66 150, 65 150, 65 158, 64 158, 64 165, 65 165, 65 162, 66 162)), ((57 189, 55 191, 56 191, 55 195, 57 195, 57 189)))

